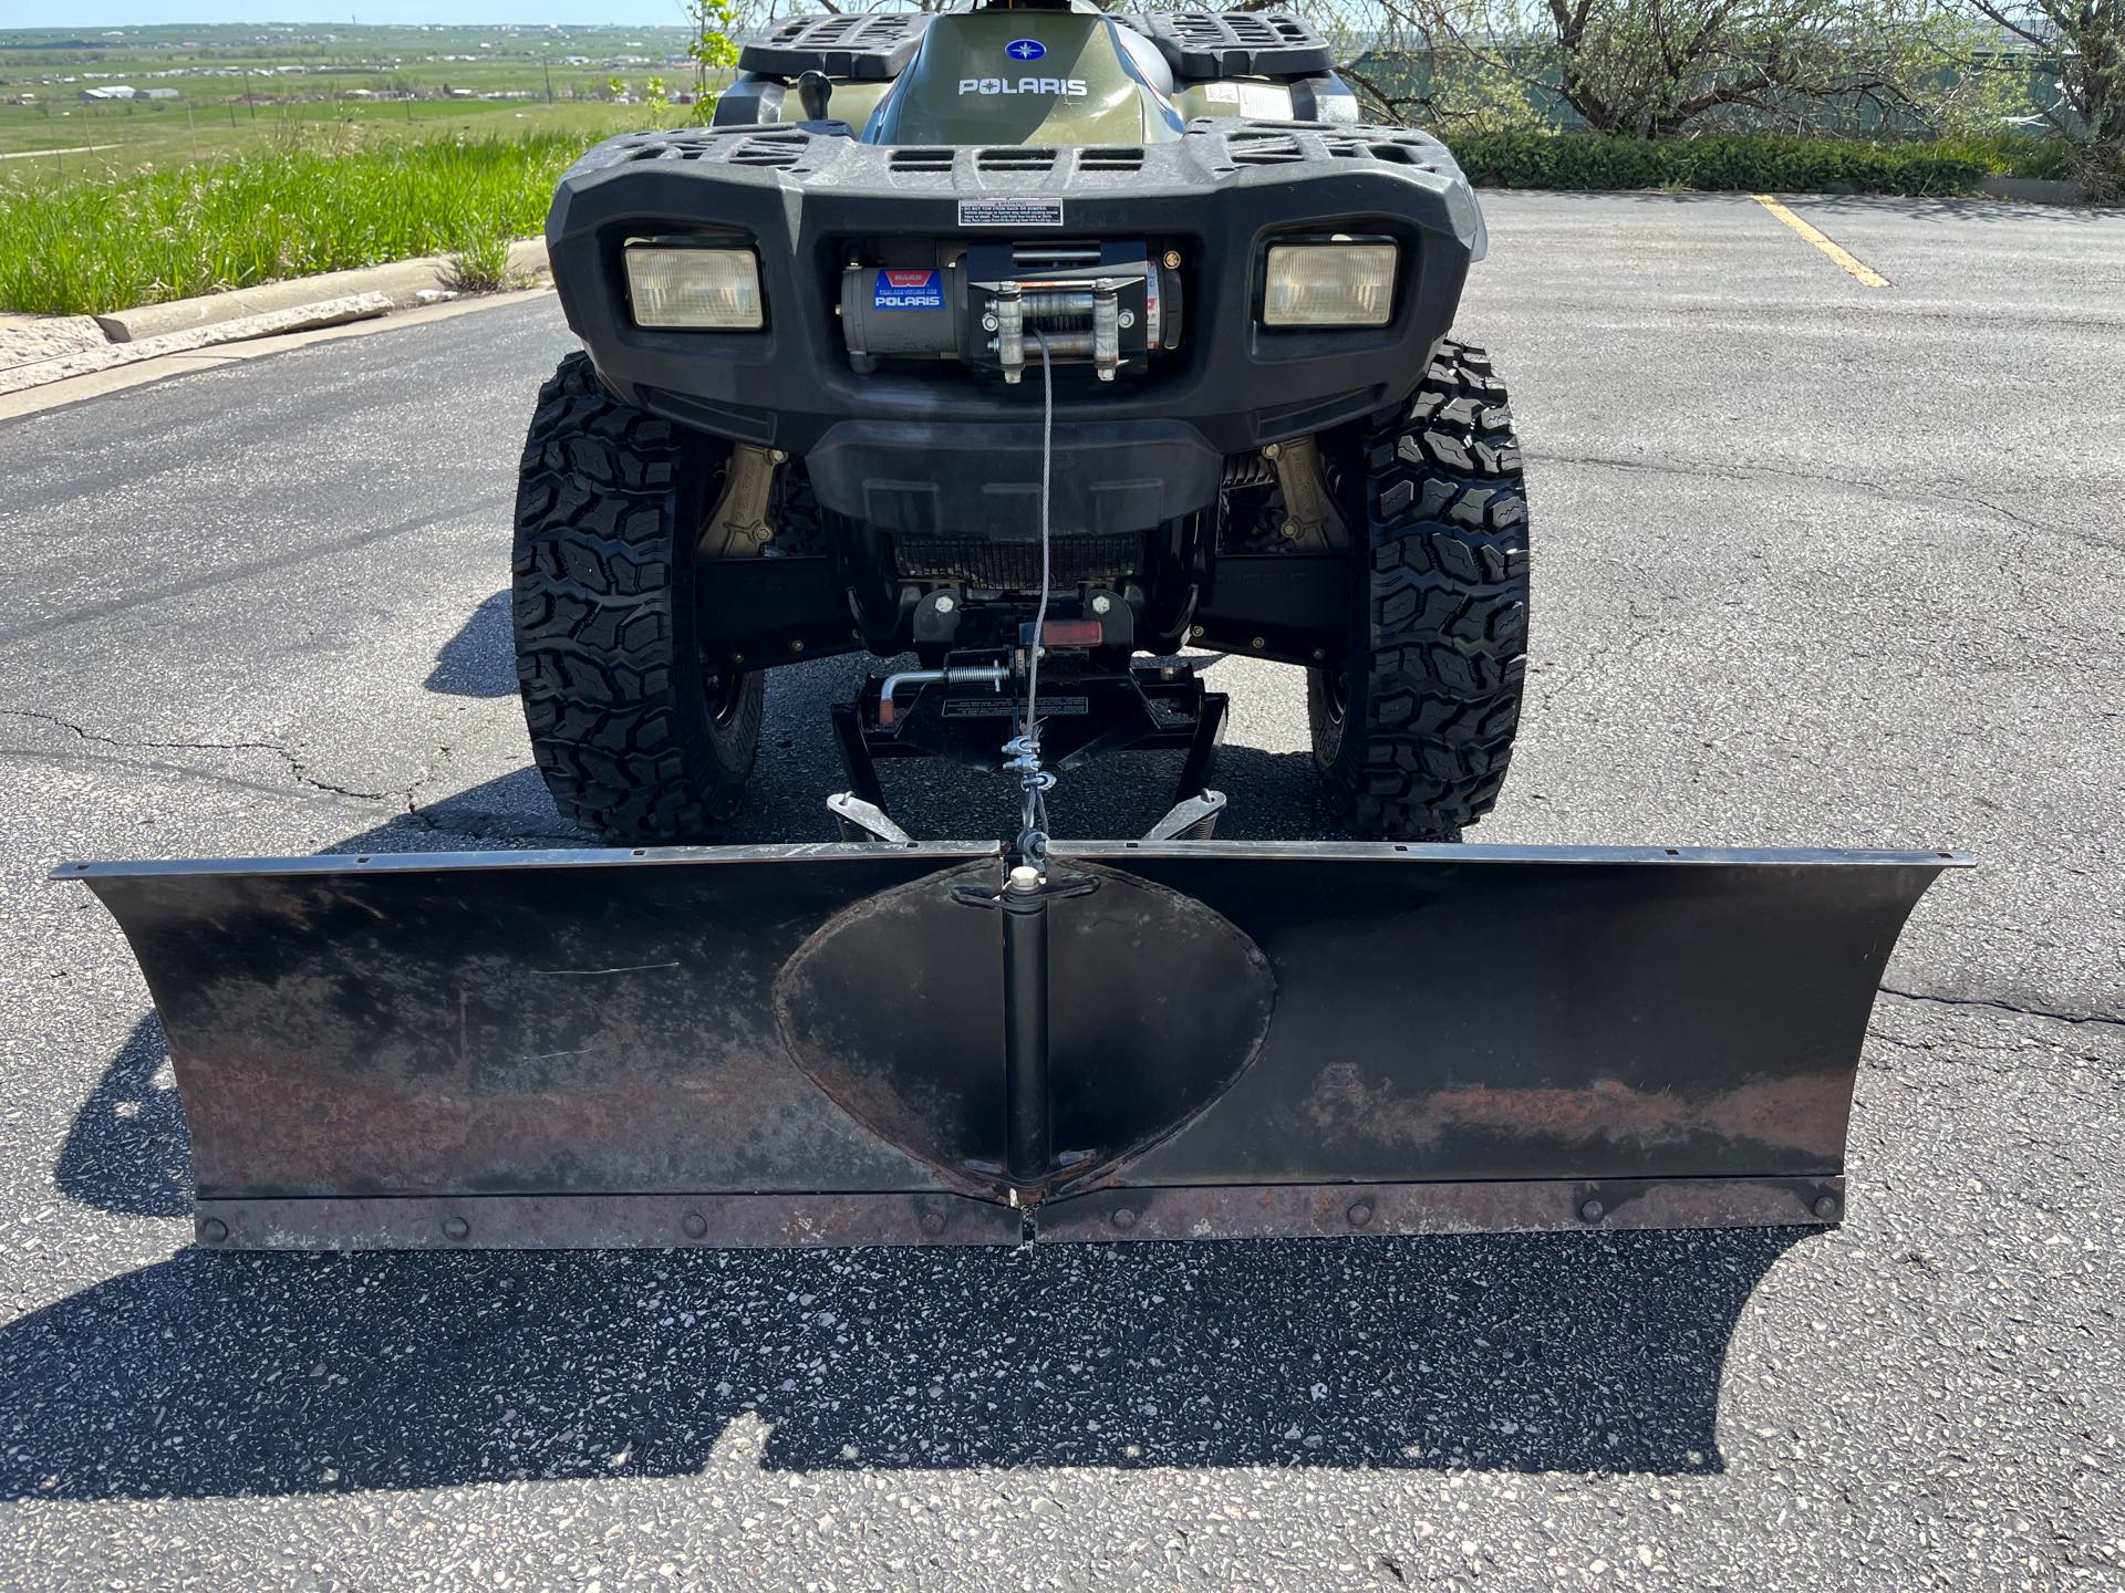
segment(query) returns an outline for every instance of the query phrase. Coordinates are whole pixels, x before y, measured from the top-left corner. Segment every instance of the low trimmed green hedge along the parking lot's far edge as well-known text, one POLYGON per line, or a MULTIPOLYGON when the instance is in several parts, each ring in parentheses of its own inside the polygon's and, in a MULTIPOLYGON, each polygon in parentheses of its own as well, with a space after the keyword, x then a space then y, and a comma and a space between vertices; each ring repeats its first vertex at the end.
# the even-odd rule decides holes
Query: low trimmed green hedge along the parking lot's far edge
POLYGON ((1454 140, 1468 181, 1509 189, 1713 189, 1740 193, 1970 193, 1989 166, 1936 144, 1868 144, 1783 134, 1602 138, 1468 134, 1454 140))

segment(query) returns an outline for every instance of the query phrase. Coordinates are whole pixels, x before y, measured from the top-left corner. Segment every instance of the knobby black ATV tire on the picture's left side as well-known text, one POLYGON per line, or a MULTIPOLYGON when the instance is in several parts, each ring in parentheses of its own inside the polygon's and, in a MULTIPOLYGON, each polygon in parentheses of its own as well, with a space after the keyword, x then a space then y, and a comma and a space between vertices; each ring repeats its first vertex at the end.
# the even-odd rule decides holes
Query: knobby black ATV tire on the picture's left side
POLYGON ((763 678, 703 667, 693 618, 727 457, 620 404, 589 355, 540 389, 516 484, 516 680, 555 805, 612 841, 708 839, 752 773, 763 678))

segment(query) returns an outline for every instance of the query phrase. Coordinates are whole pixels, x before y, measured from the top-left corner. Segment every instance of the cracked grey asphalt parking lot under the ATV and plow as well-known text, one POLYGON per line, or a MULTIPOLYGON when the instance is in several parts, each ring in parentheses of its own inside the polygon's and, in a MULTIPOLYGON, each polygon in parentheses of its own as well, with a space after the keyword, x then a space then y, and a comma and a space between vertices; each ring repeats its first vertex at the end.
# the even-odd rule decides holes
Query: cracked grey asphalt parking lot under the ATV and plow
MULTIPOLYGON (((546 299, 0 423, 4 1580, 2125 1585, 2125 217, 1791 204, 1891 287, 1745 198, 1485 200, 1538 612, 1483 839, 1978 854, 1889 969, 1836 1232, 196 1253, 147 992, 42 873, 582 843, 499 595, 570 338, 546 299)), ((744 835, 831 835, 856 669, 774 680, 744 835)), ((1298 680, 1218 678, 1230 833, 1324 833, 1298 680)), ((1156 773, 1058 828, 1141 830, 1156 773)))

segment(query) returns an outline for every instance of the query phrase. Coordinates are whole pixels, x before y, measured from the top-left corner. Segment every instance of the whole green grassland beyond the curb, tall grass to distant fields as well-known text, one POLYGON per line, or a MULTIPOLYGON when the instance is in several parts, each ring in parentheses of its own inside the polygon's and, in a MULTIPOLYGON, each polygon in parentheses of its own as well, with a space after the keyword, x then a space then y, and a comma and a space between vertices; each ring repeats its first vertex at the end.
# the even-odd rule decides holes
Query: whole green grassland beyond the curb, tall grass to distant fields
POLYGON ((693 89, 672 59, 684 42, 678 28, 0 30, 0 310, 94 314, 431 253, 484 282, 582 149, 693 115, 644 104, 652 81, 693 89), (117 83, 176 98, 81 98, 117 83))

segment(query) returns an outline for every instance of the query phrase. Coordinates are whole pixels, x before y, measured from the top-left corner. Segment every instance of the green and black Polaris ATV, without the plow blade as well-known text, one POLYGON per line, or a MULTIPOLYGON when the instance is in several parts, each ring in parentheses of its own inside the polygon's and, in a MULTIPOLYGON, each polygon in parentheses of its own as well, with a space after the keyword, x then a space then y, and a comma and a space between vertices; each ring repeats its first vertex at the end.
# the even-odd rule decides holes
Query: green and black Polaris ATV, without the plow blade
POLYGON ((1184 748, 1196 796, 1216 654, 1307 671, 1360 835, 1490 811, 1528 510, 1449 338, 1485 236, 1439 140, 1258 11, 799 17, 740 68, 546 221, 584 353, 531 421, 514 616, 565 813, 714 835, 765 671, 852 650, 914 654, 833 714, 880 816, 880 756, 1014 767, 1033 673, 1035 765, 1184 748))

